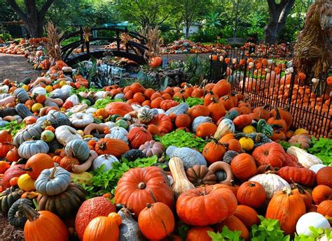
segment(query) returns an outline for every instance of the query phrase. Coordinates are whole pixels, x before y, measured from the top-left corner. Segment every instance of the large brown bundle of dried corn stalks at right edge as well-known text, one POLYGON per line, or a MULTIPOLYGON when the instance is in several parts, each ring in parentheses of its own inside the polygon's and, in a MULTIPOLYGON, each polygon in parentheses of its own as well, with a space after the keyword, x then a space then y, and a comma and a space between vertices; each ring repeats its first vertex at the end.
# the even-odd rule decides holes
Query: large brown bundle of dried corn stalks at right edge
MULTIPOLYGON (((298 35, 294 46, 294 64, 298 71, 305 73, 309 80, 319 79, 328 73, 331 64, 332 45, 329 41, 329 20, 332 17, 332 1, 317 0, 310 6, 305 27, 298 35)), ((314 90, 321 95, 325 82, 314 83, 314 90)))

